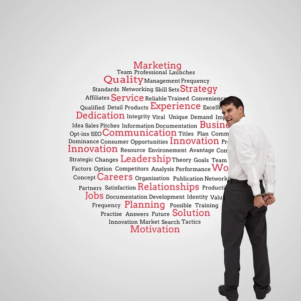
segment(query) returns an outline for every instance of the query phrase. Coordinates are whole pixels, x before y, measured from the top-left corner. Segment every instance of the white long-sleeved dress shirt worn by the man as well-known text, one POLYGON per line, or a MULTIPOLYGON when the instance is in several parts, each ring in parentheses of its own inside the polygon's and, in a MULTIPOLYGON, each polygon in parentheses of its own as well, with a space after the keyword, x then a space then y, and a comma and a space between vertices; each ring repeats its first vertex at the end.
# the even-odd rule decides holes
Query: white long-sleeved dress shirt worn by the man
POLYGON ((260 194, 259 180, 265 193, 274 193, 275 159, 263 131, 246 117, 232 124, 228 141, 229 178, 248 180, 253 195, 260 194))

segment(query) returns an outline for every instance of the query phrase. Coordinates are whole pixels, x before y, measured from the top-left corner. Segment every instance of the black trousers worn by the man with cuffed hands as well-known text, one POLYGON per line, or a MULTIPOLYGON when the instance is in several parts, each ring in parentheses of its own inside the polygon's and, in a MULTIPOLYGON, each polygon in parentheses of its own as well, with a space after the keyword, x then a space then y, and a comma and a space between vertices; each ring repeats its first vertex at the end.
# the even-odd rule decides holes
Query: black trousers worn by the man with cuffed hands
MULTIPOLYGON (((260 184, 261 193, 264 193, 260 184)), ((253 250, 254 290, 264 294, 270 284, 266 246, 267 207, 257 208, 249 185, 228 183, 222 204, 222 241, 225 262, 225 295, 237 296, 240 271, 240 244, 246 227, 253 250)))

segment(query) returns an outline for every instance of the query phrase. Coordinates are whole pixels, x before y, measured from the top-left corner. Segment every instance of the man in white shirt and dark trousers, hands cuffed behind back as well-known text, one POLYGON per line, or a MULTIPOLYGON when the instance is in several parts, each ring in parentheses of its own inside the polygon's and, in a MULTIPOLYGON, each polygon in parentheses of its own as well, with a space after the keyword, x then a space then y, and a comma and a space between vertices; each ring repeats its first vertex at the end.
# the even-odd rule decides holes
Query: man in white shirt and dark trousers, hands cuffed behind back
POLYGON ((219 286, 219 293, 230 301, 238 299, 240 244, 246 227, 253 250, 253 288, 256 298, 263 299, 271 290, 265 213, 267 206, 275 202, 274 154, 262 130, 245 117, 239 98, 229 96, 220 106, 230 127, 230 167, 222 204, 225 282, 219 286))

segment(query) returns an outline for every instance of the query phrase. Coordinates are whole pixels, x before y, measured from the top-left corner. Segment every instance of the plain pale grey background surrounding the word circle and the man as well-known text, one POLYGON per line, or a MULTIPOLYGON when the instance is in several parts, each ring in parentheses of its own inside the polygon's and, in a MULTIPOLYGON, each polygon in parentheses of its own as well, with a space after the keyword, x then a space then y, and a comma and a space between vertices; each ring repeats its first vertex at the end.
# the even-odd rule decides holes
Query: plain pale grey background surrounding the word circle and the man
MULTIPOLYGON (((15 1, 1 9, 2 300, 221 300, 220 209, 179 235, 109 227, 79 197, 66 141, 105 74, 181 62, 237 95, 277 160, 268 208, 273 300, 300 280, 297 1, 15 1), (92 93, 91 93, 92 94, 92 93)), ((240 299, 255 299, 241 247, 240 299)))

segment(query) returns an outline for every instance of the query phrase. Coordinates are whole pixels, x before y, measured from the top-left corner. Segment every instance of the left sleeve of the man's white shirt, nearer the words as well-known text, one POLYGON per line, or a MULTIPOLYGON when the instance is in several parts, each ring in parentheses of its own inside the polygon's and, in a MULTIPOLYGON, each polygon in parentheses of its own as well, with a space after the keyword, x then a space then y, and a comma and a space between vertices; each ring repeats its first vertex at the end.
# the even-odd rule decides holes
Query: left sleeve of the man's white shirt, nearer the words
POLYGON ((231 126, 229 130, 229 139, 231 139, 237 154, 238 162, 247 175, 248 185, 251 186, 253 195, 259 195, 259 168, 255 150, 252 146, 251 135, 248 130, 242 126, 231 126))

